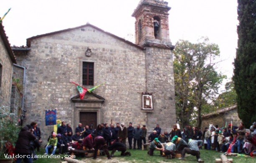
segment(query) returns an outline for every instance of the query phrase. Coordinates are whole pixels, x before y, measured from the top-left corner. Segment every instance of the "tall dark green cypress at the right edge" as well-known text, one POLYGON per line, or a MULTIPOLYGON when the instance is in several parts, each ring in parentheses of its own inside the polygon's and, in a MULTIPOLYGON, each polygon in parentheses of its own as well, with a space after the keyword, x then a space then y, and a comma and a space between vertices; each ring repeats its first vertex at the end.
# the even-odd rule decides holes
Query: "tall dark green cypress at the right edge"
POLYGON ((238 0, 238 48, 234 61, 238 116, 249 127, 256 120, 256 0, 238 0))

